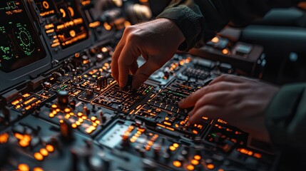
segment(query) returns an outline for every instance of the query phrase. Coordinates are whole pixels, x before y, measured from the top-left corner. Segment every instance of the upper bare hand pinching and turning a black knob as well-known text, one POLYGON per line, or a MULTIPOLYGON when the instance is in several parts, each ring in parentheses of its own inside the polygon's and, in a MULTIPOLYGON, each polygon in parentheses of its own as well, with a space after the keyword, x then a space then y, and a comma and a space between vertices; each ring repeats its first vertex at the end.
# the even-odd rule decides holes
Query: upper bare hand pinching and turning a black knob
POLYGON ((133 88, 139 88, 154 71, 173 57, 184 40, 178 26, 168 19, 155 19, 127 27, 113 53, 113 78, 120 87, 124 87, 130 72, 134 75, 133 88), (138 68, 137 58, 140 55, 146 59, 146 63, 138 68))

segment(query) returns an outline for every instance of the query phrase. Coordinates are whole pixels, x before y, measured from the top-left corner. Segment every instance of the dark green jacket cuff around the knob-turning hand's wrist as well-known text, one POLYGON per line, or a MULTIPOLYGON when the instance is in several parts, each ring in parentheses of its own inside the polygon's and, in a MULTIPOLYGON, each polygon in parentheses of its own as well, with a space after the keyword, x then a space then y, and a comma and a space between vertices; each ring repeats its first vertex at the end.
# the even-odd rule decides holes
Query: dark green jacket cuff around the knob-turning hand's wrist
POLYGON ((178 47, 179 51, 189 51, 200 40, 202 30, 200 21, 203 19, 203 15, 201 15, 198 6, 194 6, 194 8, 198 11, 198 14, 188 6, 177 6, 165 9, 157 16, 157 18, 170 19, 182 31, 185 41, 178 47))

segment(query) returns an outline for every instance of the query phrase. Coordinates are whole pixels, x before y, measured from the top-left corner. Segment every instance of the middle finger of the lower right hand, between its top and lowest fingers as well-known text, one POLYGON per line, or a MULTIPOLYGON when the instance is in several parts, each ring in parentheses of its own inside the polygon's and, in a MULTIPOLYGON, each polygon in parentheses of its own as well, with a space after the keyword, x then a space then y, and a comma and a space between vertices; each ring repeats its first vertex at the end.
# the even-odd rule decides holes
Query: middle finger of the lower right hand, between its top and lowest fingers
POLYGON ((193 110, 196 111, 204 105, 224 106, 231 93, 231 91, 214 91, 207 93, 195 103, 195 108, 193 108, 193 110))

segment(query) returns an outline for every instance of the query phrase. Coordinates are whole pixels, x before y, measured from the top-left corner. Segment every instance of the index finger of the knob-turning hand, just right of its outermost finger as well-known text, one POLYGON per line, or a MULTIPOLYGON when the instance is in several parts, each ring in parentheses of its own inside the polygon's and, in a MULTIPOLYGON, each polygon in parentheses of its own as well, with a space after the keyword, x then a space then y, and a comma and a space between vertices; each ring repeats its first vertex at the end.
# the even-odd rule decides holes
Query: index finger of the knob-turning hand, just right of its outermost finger
POLYGON ((138 48, 136 46, 132 46, 131 43, 124 46, 118 58, 119 86, 121 88, 126 86, 130 67, 140 55, 141 53, 138 51, 138 48))

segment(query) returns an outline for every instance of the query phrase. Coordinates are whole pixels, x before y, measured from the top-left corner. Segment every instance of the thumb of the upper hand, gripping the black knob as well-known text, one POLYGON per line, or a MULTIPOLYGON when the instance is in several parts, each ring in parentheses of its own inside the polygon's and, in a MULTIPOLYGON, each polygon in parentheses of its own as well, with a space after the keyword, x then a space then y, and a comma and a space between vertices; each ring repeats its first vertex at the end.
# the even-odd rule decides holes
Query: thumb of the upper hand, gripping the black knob
POLYGON ((138 69, 133 78, 132 86, 133 88, 139 88, 143 82, 145 82, 152 73, 158 70, 158 66, 148 60, 146 63, 143 63, 143 66, 138 69))

